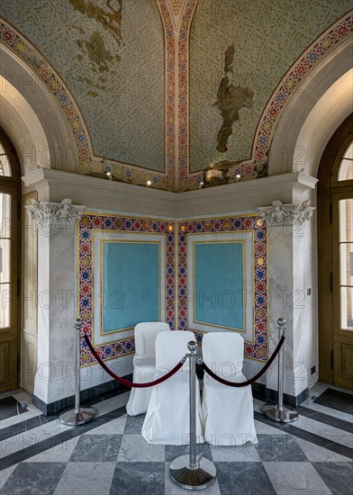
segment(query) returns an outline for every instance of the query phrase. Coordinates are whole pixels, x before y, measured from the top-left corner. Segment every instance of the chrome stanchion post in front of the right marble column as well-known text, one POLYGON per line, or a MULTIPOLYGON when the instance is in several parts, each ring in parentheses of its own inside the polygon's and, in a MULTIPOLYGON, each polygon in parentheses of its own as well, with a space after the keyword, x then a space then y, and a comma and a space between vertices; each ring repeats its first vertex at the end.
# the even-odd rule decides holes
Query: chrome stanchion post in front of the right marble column
MULTIPOLYGON (((277 320, 278 323, 278 340, 286 334, 287 329, 285 328, 285 320, 280 318, 277 320)), ((293 410, 290 407, 285 407, 283 405, 283 382, 284 382, 284 357, 285 357, 285 345, 279 351, 278 355, 278 404, 267 405, 262 408, 262 412, 269 419, 278 421, 280 423, 292 423, 298 419, 298 411, 293 410)))

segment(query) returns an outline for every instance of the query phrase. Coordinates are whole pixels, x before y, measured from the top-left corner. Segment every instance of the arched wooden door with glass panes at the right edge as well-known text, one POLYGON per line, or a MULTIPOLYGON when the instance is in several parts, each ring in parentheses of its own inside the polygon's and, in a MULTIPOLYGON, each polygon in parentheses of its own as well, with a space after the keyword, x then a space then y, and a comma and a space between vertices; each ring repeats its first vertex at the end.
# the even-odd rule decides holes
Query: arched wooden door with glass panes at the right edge
POLYGON ((325 148, 318 178, 320 379, 353 390, 353 114, 325 148))

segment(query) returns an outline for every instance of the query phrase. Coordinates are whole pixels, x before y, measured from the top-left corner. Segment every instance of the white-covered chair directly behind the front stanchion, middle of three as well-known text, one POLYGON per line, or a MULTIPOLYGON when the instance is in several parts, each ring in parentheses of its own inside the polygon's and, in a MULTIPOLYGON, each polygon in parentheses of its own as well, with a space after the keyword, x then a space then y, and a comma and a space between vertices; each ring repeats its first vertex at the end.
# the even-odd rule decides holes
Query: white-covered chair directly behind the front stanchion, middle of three
MULTIPOLYGON (((189 351, 187 343, 195 341, 188 331, 162 332, 156 338, 156 378, 170 371, 189 351)), ((186 364, 166 382, 153 387, 149 409, 142 426, 142 436, 149 444, 181 446, 189 437, 189 374, 186 364)), ((200 389, 196 378, 196 441, 204 442, 200 389)))

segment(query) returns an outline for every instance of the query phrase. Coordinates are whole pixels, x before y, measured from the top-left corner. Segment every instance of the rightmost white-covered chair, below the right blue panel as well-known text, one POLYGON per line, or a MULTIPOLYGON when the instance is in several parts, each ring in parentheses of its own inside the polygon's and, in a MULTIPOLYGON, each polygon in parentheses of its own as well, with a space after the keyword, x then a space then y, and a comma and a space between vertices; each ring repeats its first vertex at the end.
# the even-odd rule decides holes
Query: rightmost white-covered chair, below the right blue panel
MULTIPOLYGON (((203 359, 215 374, 229 382, 243 382, 244 340, 237 333, 212 332, 203 339, 203 359)), ((204 438, 213 446, 258 443, 251 385, 234 388, 204 373, 204 438)))

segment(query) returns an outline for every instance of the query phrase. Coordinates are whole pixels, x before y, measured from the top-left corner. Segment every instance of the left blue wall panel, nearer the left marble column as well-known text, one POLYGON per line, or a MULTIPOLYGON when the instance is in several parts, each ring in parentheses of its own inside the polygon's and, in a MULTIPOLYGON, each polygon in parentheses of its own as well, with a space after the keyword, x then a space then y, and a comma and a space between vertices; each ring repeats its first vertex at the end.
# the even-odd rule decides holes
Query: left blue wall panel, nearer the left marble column
POLYGON ((159 320, 159 245, 103 243, 103 333, 159 320))

